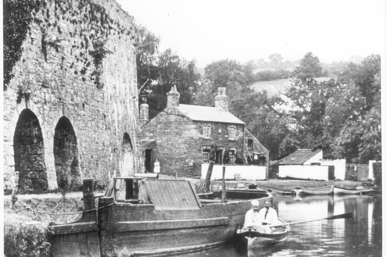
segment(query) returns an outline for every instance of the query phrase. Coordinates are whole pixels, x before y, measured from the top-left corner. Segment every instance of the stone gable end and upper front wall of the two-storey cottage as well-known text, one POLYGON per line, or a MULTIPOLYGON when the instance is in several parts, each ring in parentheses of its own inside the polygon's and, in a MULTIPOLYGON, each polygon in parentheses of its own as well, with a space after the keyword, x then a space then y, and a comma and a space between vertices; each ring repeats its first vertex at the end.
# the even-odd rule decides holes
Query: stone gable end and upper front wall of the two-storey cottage
POLYGON ((202 146, 216 144, 220 149, 237 149, 243 155, 243 125, 192 121, 175 107, 168 107, 142 126, 143 139, 156 139, 156 158, 160 172, 179 176, 201 173, 202 146), (209 138, 204 138, 202 126, 210 125, 209 138), (236 128, 236 139, 228 140, 228 127, 236 128), (221 132, 219 131, 221 129, 221 132))

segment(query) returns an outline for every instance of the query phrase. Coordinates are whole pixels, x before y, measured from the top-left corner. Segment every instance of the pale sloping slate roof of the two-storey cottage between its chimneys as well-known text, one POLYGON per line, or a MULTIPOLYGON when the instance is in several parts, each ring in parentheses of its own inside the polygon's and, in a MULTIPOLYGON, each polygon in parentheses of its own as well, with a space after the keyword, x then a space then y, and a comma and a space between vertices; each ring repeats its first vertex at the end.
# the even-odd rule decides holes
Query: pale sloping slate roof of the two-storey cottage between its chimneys
POLYGON ((176 108, 192 120, 245 124, 235 115, 216 107, 180 104, 176 108))

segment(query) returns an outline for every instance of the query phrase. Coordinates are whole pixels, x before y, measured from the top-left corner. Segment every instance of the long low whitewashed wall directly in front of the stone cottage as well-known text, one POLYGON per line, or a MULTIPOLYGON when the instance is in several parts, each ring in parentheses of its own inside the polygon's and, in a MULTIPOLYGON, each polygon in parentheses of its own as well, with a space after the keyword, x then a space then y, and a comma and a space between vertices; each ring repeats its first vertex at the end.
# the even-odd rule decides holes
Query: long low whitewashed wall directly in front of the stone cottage
MULTIPOLYGON (((208 163, 201 164, 201 178, 206 178, 208 163)), ((210 180, 222 179, 222 165, 213 166, 210 180)), ((229 165, 225 166, 225 179, 235 179, 235 174, 240 174, 242 180, 262 180, 265 179, 265 166, 255 165, 229 165)))

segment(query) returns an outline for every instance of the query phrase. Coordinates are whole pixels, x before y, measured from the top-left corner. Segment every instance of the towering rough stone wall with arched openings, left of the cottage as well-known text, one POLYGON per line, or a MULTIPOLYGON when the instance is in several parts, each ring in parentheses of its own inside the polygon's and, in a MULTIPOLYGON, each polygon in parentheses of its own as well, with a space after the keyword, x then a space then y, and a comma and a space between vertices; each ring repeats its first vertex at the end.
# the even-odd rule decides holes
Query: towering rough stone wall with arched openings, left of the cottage
POLYGON ((31 183, 26 192, 56 189, 59 166, 72 185, 85 177, 106 185, 128 169, 124 155, 130 172, 143 172, 132 17, 111 0, 38 3, 4 90, 5 190, 15 167, 31 183), (63 119, 67 131, 57 127, 63 119))

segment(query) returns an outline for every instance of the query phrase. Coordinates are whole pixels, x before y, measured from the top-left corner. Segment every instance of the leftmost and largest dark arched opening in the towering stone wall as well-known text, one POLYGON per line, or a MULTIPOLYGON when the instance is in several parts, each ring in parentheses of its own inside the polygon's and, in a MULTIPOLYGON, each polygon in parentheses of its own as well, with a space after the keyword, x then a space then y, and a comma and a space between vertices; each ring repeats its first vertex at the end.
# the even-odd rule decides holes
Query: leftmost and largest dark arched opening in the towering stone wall
POLYGON ((19 193, 42 193, 48 189, 42 128, 36 115, 24 109, 13 136, 15 171, 19 193))

